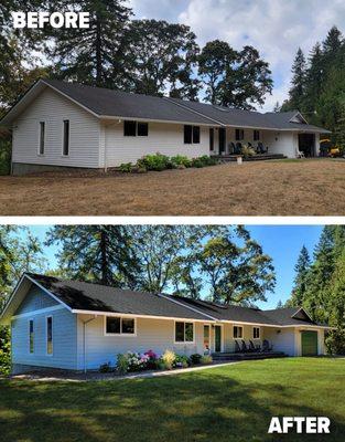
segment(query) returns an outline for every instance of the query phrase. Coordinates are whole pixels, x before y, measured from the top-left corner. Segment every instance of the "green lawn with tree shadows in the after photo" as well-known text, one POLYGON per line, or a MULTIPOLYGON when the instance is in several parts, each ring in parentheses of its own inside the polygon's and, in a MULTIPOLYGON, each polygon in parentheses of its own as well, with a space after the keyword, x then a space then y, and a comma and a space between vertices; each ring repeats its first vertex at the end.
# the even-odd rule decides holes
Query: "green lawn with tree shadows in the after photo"
POLYGON ((344 441, 345 359, 250 361, 157 379, 0 381, 0 440, 344 441), (267 434, 272 415, 326 415, 332 434, 267 434))

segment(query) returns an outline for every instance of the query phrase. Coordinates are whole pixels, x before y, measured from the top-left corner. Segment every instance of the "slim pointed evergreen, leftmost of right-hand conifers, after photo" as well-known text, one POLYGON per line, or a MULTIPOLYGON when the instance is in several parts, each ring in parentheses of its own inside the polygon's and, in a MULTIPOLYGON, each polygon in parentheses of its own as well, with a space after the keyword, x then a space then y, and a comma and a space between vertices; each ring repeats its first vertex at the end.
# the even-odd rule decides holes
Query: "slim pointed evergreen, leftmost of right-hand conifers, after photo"
POLYGON ((308 276, 310 267, 311 259, 308 249, 305 248, 305 245, 303 245, 298 262, 294 266, 295 277, 292 288, 292 295, 288 302, 289 306, 299 307, 303 304, 308 290, 308 276))

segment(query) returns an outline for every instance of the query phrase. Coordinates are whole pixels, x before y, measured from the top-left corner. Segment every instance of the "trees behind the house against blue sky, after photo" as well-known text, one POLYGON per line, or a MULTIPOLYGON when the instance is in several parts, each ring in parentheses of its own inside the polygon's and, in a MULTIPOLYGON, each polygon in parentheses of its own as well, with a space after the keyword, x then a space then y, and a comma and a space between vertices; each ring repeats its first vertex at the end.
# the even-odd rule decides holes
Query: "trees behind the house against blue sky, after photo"
MULTIPOLYGON (((45 243, 25 228, 0 227, 2 305, 25 271, 251 307, 276 286, 272 259, 244 227, 56 225, 45 243), (56 269, 43 252, 52 244, 60 245, 56 269)), ((327 348, 345 354, 345 227, 325 227, 313 259, 302 248, 285 306, 303 306, 314 320, 337 327, 327 348)), ((3 371, 9 355, 2 327, 3 371)))

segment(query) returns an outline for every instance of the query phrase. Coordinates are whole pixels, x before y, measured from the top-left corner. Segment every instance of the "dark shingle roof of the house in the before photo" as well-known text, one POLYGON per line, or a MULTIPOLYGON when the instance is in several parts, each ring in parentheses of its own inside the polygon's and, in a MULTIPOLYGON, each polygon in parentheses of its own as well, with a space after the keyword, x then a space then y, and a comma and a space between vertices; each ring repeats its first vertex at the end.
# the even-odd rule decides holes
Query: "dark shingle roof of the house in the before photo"
POLYGON ((328 131, 324 128, 308 124, 290 123, 291 118, 298 114, 298 110, 261 114, 259 112, 233 109, 177 98, 155 97, 84 86, 58 80, 44 80, 43 82, 55 87, 99 116, 157 119, 215 126, 219 124, 225 126, 280 130, 328 131))

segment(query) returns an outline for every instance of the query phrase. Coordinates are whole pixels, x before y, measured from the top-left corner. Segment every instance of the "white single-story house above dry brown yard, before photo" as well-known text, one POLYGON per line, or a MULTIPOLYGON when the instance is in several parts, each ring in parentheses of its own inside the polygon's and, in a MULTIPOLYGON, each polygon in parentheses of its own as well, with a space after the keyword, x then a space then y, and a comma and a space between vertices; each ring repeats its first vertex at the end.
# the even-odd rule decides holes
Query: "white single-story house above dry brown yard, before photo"
POLYGON ((237 143, 269 154, 317 156, 320 134, 299 112, 238 110, 129 94, 56 80, 37 81, 2 118, 12 129, 12 172, 107 169, 148 154, 226 156, 237 143))

